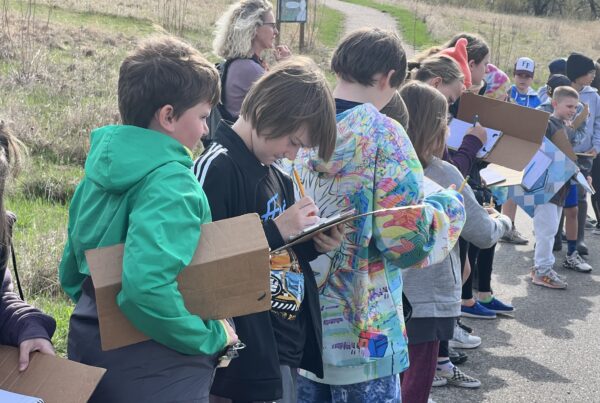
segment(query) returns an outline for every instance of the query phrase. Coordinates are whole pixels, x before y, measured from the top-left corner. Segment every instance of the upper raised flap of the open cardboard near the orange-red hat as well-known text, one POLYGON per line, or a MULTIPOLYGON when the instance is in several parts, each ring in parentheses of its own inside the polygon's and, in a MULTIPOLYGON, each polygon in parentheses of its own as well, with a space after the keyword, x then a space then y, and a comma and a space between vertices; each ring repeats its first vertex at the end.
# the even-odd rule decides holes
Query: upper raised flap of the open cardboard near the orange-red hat
POLYGON ((503 138, 512 136, 534 142, 538 146, 542 144, 550 117, 549 113, 537 109, 472 93, 463 94, 460 97, 457 117, 466 122, 473 122, 475 115, 479 115, 482 126, 502 131, 503 138))

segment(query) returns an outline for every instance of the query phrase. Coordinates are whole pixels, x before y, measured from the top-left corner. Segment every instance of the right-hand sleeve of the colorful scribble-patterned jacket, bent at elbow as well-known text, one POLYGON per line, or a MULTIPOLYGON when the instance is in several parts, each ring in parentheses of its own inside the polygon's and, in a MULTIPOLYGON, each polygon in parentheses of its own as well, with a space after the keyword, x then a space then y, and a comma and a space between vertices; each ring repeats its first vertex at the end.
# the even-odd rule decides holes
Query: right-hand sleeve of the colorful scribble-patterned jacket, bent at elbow
POLYGON ((374 210, 414 206, 374 217, 373 237, 385 258, 401 268, 445 259, 465 222, 462 197, 444 190, 423 198, 423 168, 399 126, 379 140, 374 181, 374 210))

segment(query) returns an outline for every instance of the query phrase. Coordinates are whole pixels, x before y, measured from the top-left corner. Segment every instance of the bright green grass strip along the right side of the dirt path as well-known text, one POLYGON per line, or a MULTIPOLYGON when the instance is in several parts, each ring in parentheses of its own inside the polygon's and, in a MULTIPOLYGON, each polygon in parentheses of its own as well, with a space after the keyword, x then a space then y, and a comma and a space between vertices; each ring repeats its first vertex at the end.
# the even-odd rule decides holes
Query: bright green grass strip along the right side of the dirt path
POLYGON ((402 37, 407 45, 423 49, 435 44, 435 40, 427 30, 425 24, 419 17, 406 8, 394 6, 391 4, 381 4, 373 0, 343 0, 347 3, 358 4, 371 7, 391 15, 398 25, 398 30, 402 32, 402 37))

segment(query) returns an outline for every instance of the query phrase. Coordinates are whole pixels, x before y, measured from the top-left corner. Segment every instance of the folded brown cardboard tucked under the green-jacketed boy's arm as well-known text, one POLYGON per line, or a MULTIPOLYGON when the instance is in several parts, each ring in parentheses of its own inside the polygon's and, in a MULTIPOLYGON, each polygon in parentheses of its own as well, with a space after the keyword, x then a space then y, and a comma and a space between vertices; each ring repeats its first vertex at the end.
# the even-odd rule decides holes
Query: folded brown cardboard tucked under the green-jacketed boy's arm
MULTIPOLYGON (((124 245, 86 251, 103 350, 148 340, 116 304, 124 245)), ((257 214, 202 226, 192 262, 179 275, 187 309, 202 319, 224 319, 271 307, 269 245, 257 214)))

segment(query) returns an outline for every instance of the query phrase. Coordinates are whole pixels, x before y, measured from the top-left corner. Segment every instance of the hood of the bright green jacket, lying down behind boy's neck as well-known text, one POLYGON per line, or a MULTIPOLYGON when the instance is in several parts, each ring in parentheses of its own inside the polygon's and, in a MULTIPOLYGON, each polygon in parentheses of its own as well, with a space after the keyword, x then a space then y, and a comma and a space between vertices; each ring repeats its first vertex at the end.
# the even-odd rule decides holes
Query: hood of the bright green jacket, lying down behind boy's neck
POLYGON ((137 126, 104 126, 92 131, 85 175, 107 192, 119 194, 170 162, 192 165, 177 140, 137 126))

